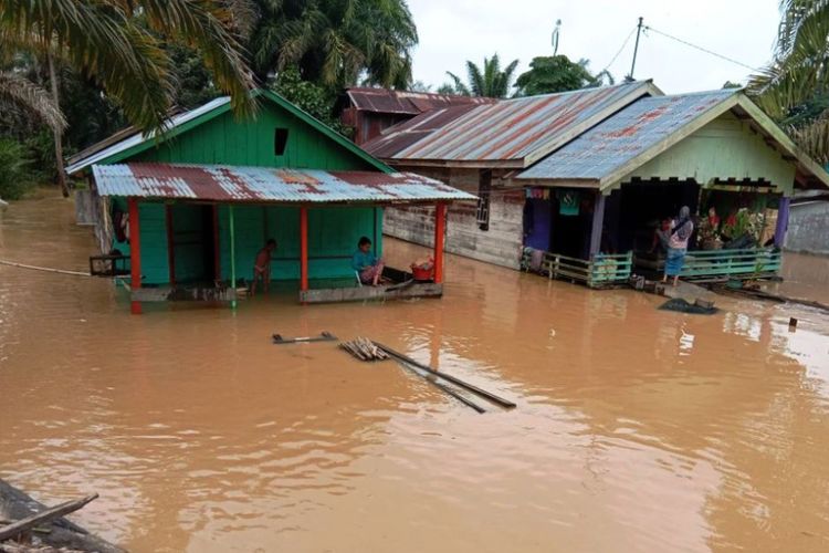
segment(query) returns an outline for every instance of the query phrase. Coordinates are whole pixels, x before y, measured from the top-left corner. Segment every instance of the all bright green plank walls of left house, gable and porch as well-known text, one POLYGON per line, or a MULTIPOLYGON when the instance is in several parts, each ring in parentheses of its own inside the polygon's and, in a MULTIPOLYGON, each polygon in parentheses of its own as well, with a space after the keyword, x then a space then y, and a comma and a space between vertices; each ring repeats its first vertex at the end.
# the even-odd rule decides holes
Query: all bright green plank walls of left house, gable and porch
MULTIPOLYGON (((323 170, 378 170, 358 155, 337 144, 306 122, 273 102, 263 101, 255 119, 239 121, 228 112, 172 137, 126 161, 225 164, 260 167, 313 168, 323 170), (287 128, 283 155, 274 152, 276 128, 287 128)), ((126 211, 126 200, 114 198, 126 211)), ((203 219, 200 208, 178 202, 171 206, 176 246, 176 280, 204 278, 204 244, 199 239, 203 219)), ((228 206, 219 206, 219 252, 221 276, 230 279, 230 230, 228 206)), ((272 265, 274 280, 300 278, 300 211, 293 206, 234 207, 237 276, 253 278, 253 260, 267 238, 279 250, 272 265)), ((141 272, 145 284, 169 283, 165 205, 140 202, 141 272)), ((368 236, 382 250, 382 209, 372 207, 313 208, 308 212, 311 279, 348 278, 350 255, 360 236, 368 236)), ((129 244, 115 243, 122 252, 129 244)))

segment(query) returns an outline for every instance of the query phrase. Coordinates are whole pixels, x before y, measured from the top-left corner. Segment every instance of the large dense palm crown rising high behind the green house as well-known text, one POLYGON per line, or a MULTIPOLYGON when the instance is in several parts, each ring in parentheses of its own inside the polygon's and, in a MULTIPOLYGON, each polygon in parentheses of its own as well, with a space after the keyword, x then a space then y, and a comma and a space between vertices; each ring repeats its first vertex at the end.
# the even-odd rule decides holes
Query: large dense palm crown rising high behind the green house
POLYGON ((296 66, 330 88, 357 84, 406 87, 418 42, 405 0, 256 0, 249 50, 260 79, 296 66))

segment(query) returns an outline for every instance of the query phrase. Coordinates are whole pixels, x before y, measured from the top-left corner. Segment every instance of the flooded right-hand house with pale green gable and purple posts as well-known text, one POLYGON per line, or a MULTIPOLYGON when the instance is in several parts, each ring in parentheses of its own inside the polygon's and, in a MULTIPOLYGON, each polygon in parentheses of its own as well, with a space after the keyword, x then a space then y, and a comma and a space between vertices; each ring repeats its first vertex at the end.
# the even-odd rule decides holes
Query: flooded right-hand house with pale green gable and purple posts
MULTIPOLYGON (((479 196, 450 210, 449 251, 511 268, 541 252, 547 272, 591 285, 627 279, 634 262, 659 269, 654 228, 683 205, 723 219, 751 210, 779 247, 795 188, 829 186, 742 91, 664 95, 650 82, 433 109, 365 147, 479 196)), ((429 218, 389 210, 386 231, 422 242, 429 218)), ((683 275, 776 273, 764 243, 694 252, 683 275)))

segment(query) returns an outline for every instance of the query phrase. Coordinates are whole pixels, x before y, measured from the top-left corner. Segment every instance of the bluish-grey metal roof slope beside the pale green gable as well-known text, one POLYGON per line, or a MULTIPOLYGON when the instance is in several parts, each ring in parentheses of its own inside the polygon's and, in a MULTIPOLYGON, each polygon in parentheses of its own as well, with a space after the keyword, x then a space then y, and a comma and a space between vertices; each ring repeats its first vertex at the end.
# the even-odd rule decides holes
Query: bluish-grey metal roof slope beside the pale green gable
POLYGON ((734 94, 738 91, 639 100, 516 178, 599 180, 734 94))

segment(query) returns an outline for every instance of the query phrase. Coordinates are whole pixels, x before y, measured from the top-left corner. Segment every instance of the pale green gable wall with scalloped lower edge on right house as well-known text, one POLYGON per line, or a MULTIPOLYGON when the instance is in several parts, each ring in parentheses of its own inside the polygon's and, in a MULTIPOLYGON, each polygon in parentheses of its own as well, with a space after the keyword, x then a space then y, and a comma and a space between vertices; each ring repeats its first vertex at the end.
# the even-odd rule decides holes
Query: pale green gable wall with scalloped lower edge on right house
POLYGON ((693 178, 702 185, 714 179, 768 180, 776 191, 790 196, 795 165, 769 147, 747 122, 727 113, 627 175, 642 179, 693 178))

